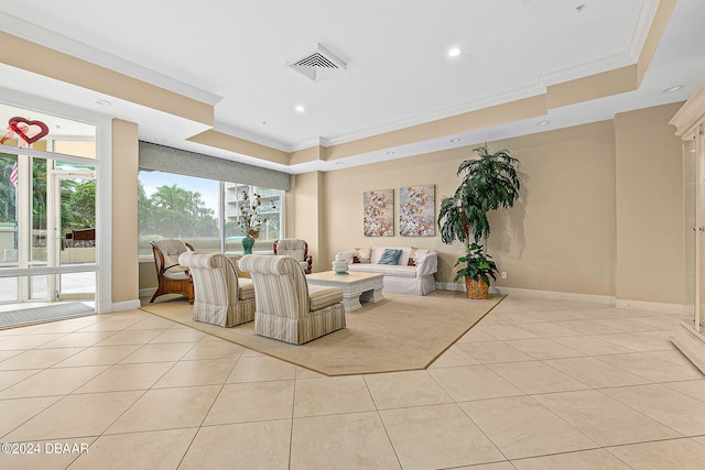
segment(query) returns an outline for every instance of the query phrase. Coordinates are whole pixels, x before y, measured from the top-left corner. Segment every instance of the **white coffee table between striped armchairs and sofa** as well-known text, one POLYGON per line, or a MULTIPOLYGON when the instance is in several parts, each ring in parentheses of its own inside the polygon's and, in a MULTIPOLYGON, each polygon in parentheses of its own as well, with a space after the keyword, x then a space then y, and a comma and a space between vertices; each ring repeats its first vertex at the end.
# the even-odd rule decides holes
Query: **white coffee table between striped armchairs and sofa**
POLYGON ((336 274, 334 271, 306 274, 311 285, 337 287, 343 289, 343 306, 349 313, 362 308, 362 302, 379 302, 384 299, 384 274, 348 273, 336 274))

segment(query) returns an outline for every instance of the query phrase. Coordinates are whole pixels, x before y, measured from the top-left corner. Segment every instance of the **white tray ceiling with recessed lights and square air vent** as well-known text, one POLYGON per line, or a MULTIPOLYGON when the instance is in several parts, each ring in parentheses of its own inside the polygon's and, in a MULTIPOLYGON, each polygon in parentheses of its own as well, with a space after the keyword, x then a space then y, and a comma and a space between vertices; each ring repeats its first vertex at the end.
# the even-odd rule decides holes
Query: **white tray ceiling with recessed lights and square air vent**
MULTIPOLYGON (((215 105, 215 129, 283 151, 332 145, 545 92, 634 64, 658 0, 3 0, 0 30, 215 105), (583 6, 583 8, 578 8, 583 6), (579 11, 578 11, 579 10, 579 11), (286 66, 322 44, 347 64, 314 83, 286 66), (447 56, 449 47, 462 50, 447 56), (295 106, 305 107, 296 112, 295 106)), ((685 100, 705 80, 705 1, 679 0, 639 90, 544 118, 355 155, 399 159, 685 100), (672 94, 662 89, 683 85, 672 94), (538 127, 536 122, 547 120, 538 127), (451 143, 451 138, 462 139, 451 143), (390 152, 393 154, 388 154, 390 152)), ((140 139, 290 173, 185 139, 206 130, 0 64, 0 87, 140 124, 140 139), (100 107, 95 99, 109 100, 100 107)))

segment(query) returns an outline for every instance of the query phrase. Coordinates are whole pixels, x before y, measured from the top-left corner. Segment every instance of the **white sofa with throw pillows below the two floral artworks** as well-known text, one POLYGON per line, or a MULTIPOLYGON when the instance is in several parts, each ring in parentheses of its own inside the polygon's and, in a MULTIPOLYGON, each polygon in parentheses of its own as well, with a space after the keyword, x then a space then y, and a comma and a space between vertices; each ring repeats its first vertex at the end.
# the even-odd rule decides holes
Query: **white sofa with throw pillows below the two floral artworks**
POLYGON ((398 294, 426 295, 436 288, 434 274, 438 271, 438 255, 433 250, 413 247, 371 247, 344 251, 348 270, 384 274, 384 291, 398 294), (384 250, 401 250, 395 265, 379 264, 384 250), (366 255, 369 253, 369 260, 366 255), (411 259, 411 262, 410 262, 411 259))

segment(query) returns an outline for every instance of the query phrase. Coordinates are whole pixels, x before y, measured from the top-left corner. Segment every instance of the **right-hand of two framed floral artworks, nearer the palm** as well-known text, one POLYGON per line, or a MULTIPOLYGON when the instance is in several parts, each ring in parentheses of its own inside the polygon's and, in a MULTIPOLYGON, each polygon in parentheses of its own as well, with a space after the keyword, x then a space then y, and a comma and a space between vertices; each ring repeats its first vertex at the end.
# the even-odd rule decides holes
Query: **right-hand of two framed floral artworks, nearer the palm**
POLYGON ((399 234, 402 237, 436 234, 434 185, 399 188, 399 234))

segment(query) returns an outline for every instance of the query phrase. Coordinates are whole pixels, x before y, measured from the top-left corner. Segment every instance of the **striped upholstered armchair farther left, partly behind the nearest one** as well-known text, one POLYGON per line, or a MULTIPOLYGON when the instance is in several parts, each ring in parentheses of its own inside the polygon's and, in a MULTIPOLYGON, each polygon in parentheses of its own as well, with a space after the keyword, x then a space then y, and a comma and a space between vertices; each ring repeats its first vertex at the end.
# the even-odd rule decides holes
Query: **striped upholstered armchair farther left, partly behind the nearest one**
POLYGON ((194 320, 232 327, 254 319, 252 281, 238 277, 235 264, 221 253, 178 256, 194 281, 194 320))

